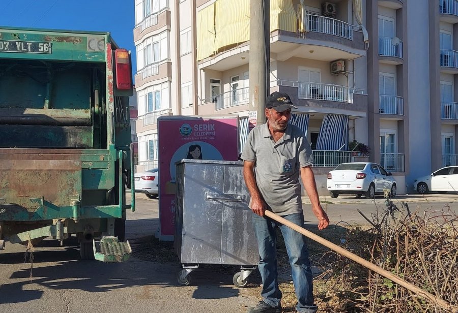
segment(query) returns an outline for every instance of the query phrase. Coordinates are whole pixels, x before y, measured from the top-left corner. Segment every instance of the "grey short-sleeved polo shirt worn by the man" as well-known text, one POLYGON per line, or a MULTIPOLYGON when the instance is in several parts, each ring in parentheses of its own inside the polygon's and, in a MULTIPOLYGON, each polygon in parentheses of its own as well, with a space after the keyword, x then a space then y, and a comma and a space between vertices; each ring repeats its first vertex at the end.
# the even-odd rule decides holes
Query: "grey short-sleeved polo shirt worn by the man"
POLYGON ((288 124, 283 137, 274 142, 267 123, 255 127, 248 135, 241 158, 255 162, 257 187, 273 212, 302 212, 299 168, 311 165, 313 154, 300 128, 288 124))

